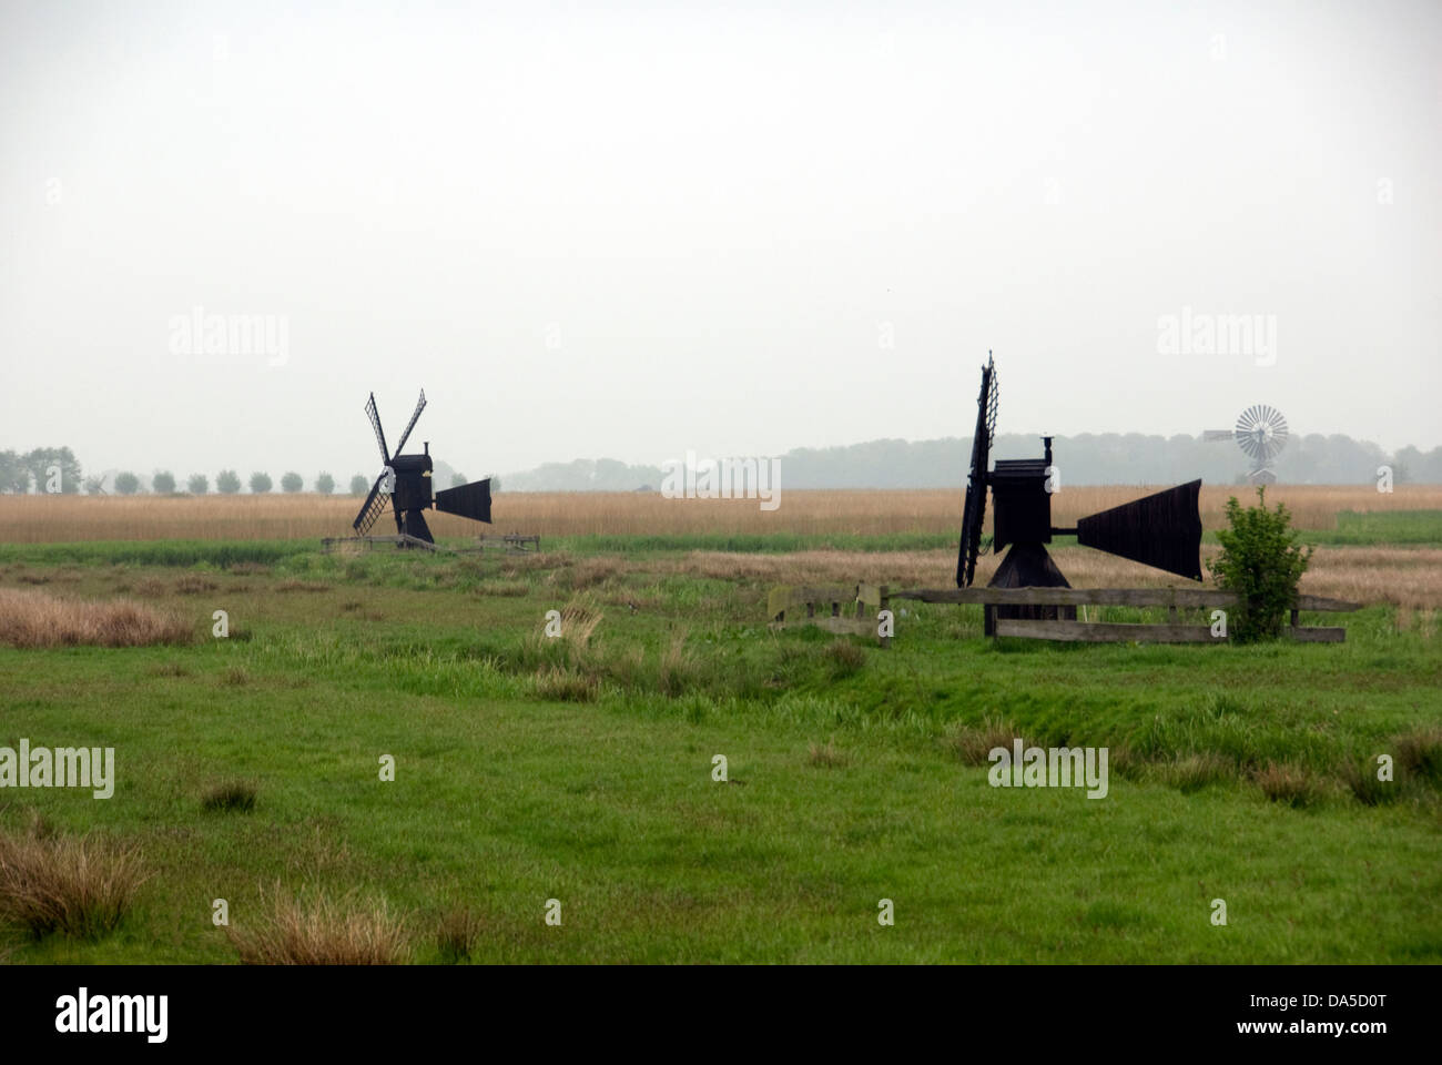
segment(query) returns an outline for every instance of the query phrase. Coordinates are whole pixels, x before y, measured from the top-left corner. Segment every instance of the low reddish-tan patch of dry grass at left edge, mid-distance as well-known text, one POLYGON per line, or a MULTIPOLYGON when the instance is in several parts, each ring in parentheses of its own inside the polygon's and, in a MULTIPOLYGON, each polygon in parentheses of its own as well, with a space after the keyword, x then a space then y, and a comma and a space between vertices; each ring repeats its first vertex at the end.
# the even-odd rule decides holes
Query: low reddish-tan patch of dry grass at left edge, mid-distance
POLYGON ((147 647, 192 638, 189 621, 128 599, 62 599, 37 589, 0 587, 0 645, 147 647))

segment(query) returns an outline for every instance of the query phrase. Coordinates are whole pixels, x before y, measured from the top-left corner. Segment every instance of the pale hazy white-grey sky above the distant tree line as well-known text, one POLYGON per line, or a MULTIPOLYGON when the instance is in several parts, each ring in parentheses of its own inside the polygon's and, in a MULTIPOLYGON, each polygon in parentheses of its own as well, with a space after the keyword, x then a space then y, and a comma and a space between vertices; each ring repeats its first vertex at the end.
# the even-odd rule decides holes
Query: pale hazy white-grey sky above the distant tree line
POLYGON ((1442 4, 1086 7, 3 0, 0 447, 966 436, 988 348, 1001 431, 1442 444, 1442 4))

